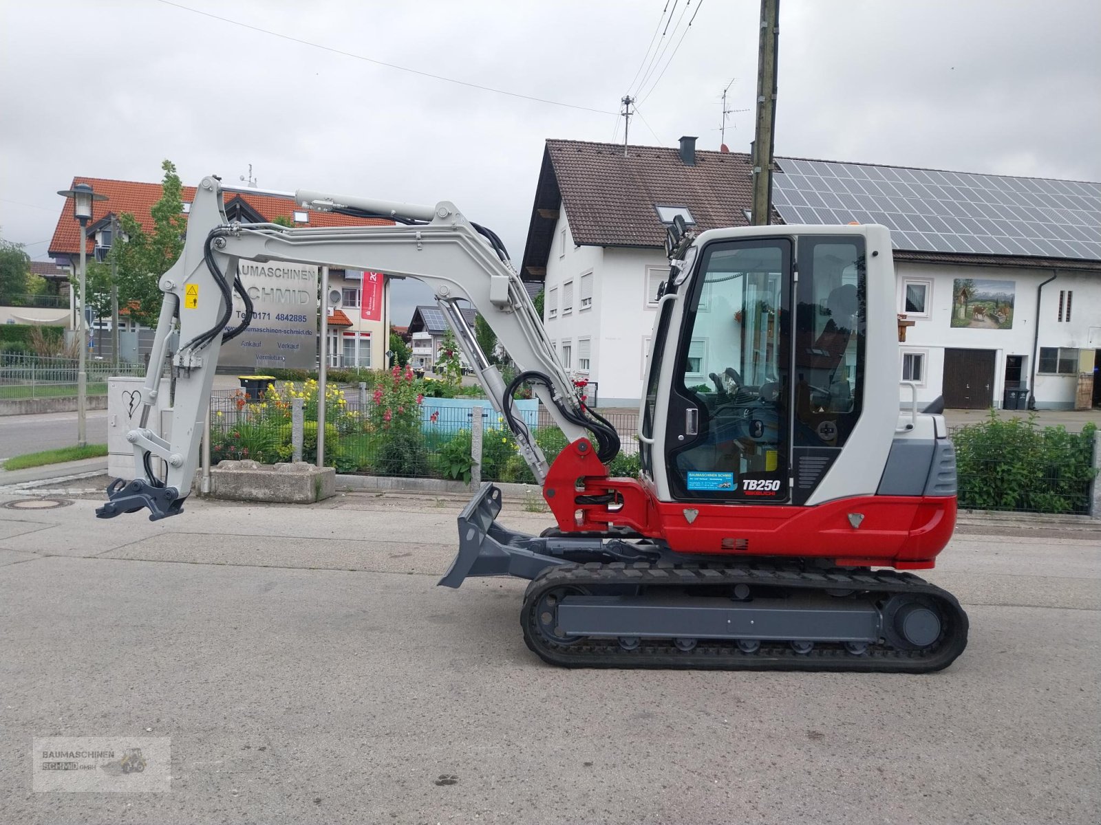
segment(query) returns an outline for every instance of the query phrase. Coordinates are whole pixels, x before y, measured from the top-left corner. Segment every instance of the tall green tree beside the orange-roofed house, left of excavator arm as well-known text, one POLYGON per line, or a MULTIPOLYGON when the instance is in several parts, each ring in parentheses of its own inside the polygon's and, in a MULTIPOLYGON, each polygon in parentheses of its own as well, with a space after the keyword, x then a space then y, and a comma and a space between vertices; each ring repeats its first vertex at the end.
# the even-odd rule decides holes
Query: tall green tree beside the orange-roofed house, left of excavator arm
MULTIPOLYGON (((119 306, 127 308, 132 320, 146 327, 156 323, 164 297, 159 282, 179 257, 187 227, 183 185, 175 164, 164 161, 161 168, 164 169, 161 199, 150 210, 153 217, 152 233, 142 229, 133 215, 123 212, 119 223, 126 240, 119 239, 111 245, 108 258, 118 266, 119 306)), ((92 290, 89 289, 89 300, 91 295, 92 290)))

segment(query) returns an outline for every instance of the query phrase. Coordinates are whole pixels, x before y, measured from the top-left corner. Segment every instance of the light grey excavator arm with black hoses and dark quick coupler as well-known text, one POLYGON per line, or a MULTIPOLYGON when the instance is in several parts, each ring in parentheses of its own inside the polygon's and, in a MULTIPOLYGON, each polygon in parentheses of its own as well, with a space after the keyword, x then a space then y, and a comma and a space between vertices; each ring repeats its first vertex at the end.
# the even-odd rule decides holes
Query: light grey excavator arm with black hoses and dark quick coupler
POLYGON ((453 204, 435 207, 392 204, 358 197, 299 190, 295 200, 314 209, 391 218, 393 226, 286 228, 274 223, 230 223, 222 207, 222 186, 206 177, 196 189, 187 238, 176 263, 161 277, 164 302, 142 389, 139 426, 127 438, 133 444, 137 474, 108 488, 110 501, 97 510, 101 518, 148 507, 150 518, 178 513, 190 493, 218 355, 224 340, 243 332, 251 320, 251 301, 236 277, 238 261, 286 261, 337 268, 370 270, 416 278, 430 286, 456 333, 467 361, 493 407, 516 436, 520 454, 543 484, 548 465, 523 419, 511 413, 519 382, 530 382, 569 441, 592 433, 597 453, 610 461, 619 451, 614 428, 580 402, 559 364, 542 319, 491 231, 468 221, 453 204), (233 314, 233 292, 244 306, 233 314), (460 311, 470 306, 486 318, 498 340, 521 370, 505 385, 497 366, 481 351, 460 311), (164 389, 162 365, 178 324, 178 349, 172 356, 176 388, 167 438, 146 425, 164 389), (152 459, 166 466, 165 477, 152 459))

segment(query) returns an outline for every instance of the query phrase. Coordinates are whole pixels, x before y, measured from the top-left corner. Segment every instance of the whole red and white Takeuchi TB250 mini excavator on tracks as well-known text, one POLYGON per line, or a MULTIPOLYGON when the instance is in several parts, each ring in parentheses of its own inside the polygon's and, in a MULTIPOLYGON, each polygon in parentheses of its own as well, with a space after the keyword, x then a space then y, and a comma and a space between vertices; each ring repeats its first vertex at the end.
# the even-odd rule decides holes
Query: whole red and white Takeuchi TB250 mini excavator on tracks
POLYGON ((528 580, 528 648, 564 667, 920 673, 967 645, 958 601, 918 578, 956 522, 956 458, 936 407, 898 403, 895 276, 880 226, 669 229, 639 410, 637 479, 609 477, 620 437, 559 363, 491 230, 453 204, 299 190, 296 201, 392 226, 287 228, 227 220, 204 178, 164 292, 135 477, 97 515, 177 515, 192 491, 224 341, 253 307, 239 261, 416 278, 435 293, 490 402, 542 485, 555 524, 500 524, 483 483, 458 518, 439 581, 528 580), (235 302, 237 307, 235 307, 235 302), (505 382, 460 309, 472 306, 520 372, 505 382), (171 435, 146 427, 171 354, 171 435), (513 408, 522 385, 565 433, 548 463, 513 408), (165 471, 155 473, 152 459, 165 471))

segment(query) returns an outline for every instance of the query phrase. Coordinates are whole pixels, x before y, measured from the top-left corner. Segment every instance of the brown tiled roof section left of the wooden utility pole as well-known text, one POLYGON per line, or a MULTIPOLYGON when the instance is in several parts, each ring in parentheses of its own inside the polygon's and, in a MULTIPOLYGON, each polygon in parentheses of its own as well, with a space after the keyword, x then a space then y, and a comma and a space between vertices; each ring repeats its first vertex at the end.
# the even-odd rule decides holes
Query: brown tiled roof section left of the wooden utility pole
POLYGON ((655 204, 686 206, 698 229, 744 227, 752 202, 749 155, 696 151, 686 166, 676 148, 547 141, 574 243, 664 246, 655 204))

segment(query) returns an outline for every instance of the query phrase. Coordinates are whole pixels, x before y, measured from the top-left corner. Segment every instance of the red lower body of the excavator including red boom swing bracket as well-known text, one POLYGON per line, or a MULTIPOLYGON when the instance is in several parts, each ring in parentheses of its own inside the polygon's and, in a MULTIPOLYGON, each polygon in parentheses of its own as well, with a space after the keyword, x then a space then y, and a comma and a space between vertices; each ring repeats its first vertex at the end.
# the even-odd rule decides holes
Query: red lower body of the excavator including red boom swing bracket
POLYGON ((633 479, 607 477, 584 439, 559 453, 543 495, 564 532, 614 525, 680 553, 830 559, 843 566, 931 568, 956 526, 955 496, 869 495, 809 507, 658 502, 633 479), (611 493, 611 506, 577 501, 611 493), (853 527, 849 516, 857 514, 853 527))

